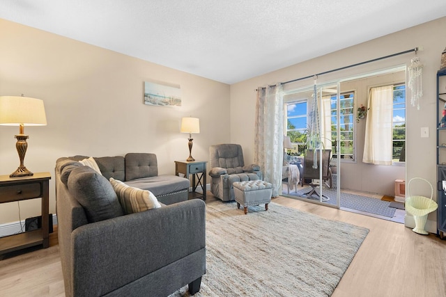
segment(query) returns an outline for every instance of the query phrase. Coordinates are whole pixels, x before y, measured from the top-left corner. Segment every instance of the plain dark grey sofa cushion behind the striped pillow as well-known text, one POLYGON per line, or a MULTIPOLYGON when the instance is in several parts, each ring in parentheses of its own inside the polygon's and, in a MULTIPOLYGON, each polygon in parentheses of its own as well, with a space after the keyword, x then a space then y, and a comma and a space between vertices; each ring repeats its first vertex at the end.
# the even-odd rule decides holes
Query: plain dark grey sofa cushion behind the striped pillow
POLYGON ((84 207, 89 223, 124 214, 112 184, 93 168, 73 168, 67 186, 72 197, 84 207))

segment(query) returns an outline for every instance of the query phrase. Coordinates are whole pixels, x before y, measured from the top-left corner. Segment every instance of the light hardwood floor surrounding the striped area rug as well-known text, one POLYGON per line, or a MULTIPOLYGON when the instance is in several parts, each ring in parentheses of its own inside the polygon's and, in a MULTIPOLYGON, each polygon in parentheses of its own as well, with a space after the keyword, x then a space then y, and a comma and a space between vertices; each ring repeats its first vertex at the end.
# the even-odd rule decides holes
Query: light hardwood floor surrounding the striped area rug
MULTIPOLYGON (((370 230, 333 297, 446 296, 446 241, 435 235, 415 234, 400 223, 310 202, 284 197, 272 202, 370 230)), ((57 239, 55 233, 51 236, 45 250, 0 261, 1 297, 65 296, 57 239)))

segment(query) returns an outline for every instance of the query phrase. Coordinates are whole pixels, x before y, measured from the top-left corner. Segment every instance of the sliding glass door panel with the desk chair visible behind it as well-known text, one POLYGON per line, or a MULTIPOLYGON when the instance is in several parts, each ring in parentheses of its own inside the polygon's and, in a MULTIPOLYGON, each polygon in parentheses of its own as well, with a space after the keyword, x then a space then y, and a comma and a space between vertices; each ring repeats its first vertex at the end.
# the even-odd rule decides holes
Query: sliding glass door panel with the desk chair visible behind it
MULTIPOLYGON (((341 139, 339 83, 285 96, 282 195, 339 208, 341 139)), ((353 124, 353 123, 352 123, 353 124)))

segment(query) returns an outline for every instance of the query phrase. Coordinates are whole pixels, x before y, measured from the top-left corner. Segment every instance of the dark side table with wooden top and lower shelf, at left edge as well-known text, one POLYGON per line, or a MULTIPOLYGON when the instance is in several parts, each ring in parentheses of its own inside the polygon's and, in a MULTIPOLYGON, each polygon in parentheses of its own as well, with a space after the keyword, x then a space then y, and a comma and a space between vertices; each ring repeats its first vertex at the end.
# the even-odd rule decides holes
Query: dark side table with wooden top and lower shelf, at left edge
POLYGON ((42 229, 0 238, 0 259, 3 254, 31 246, 49 246, 49 172, 26 177, 0 175, 0 203, 42 198, 42 229))

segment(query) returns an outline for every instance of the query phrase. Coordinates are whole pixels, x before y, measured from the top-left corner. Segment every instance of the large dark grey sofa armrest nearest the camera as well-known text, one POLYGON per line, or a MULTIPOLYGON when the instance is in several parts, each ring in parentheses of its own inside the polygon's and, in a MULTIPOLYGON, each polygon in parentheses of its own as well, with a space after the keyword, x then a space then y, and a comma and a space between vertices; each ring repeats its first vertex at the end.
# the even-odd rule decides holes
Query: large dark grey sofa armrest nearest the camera
POLYGON ((72 232, 74 296, 102 296, 206 247, 194 199, 90 223, 72 232))

